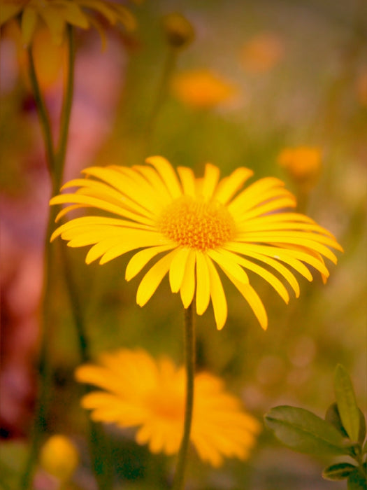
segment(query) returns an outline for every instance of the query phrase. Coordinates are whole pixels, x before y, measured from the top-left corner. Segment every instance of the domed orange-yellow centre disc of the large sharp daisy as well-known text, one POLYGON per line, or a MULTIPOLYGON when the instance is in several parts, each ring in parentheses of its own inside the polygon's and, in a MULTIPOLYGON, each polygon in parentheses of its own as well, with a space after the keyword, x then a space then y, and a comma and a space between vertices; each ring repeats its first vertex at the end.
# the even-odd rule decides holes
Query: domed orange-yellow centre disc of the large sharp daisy
POLYGON ((180 197, 159 218, 159 229, 182 246, 206 251, 233 238, 235 225, 223 204, 180 197))

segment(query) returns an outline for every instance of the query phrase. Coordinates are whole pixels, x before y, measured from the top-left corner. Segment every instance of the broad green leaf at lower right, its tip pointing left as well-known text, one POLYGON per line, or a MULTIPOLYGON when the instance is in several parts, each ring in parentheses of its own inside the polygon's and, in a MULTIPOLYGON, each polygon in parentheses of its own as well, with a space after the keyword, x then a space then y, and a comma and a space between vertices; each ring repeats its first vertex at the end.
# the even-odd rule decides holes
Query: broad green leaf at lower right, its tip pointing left
POLYGON ((283 444, 308 454, 350 454, 335 427, 306 409, 283 405, 265 415, 266 425, 283 444))

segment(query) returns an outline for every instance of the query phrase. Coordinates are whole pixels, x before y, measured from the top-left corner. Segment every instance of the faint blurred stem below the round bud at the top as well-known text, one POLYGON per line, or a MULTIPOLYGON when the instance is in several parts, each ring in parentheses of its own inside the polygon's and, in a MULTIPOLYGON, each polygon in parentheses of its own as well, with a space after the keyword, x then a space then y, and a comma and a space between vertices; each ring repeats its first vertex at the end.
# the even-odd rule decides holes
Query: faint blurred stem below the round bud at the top
POLYGON ((152 132, 154 129, 154 125, 157 122, 157 118, 159 116, 159 112, 161 111, 161 106, 163 106, 164 101, 166 100, 168 94, 168 84, 171 79, 171 75, 173 70, 175 69, 175 64, 177 60, 178 50, 175 48, 169 48, 167 52, 166 59, 164 61, 164 67, 161 74, 161 80, 159 82, 159 87, 157 91, 157 98, 154 101, 154 105, 152 107, 152 112, 150 113, 150 117, 147 120, 145 126, 145 153, 149 150, 150 140, 152 138, 152 132))

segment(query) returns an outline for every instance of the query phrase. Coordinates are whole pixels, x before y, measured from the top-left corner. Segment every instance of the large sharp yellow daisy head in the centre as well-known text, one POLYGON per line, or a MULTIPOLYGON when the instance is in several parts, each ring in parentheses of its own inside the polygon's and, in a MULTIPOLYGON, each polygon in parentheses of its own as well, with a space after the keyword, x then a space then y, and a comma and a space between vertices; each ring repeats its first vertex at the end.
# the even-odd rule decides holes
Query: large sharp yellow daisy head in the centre
POLYGON ((220 179, 220 170, 207 164, 202 179, 192 169, 178 167, 160 156, 149 165, 132 168, 90 167, 87 179, 75 179, 65 188, 73 193, 53 197, 50 204, 71 204, 108 211, 112 216, 83 216, 61 225, 51 239, 61 235, 69 246, 92 245, 86 262, 104 264, 129 251, 137 252, 127 265, 130 281, 153 258, 138 286, 136 302, 143 306, 168 273, 171 290, 180 292, 189 307, 196 295, 196 312, 206 311, 210 299, 217 328, 227 316, 226 297, 217 267, 238 288, 263 328, 267 326, 264 305, 250 285, 246 270, 258 274, 289 300, 287 288, 275 271, 299 295, 292 269, 309 281, 308 266, 329 276, 322 256, 336 262, 329 247, 342 250, 330 232, 311 218, 290 211, 294 196, 279 179, 268 177, 240 191, 253 172, 245 167, 220 179), (265 267, 264 267, 265 266, 265 267), (270 269, 270 270, 269 270, 270 269))

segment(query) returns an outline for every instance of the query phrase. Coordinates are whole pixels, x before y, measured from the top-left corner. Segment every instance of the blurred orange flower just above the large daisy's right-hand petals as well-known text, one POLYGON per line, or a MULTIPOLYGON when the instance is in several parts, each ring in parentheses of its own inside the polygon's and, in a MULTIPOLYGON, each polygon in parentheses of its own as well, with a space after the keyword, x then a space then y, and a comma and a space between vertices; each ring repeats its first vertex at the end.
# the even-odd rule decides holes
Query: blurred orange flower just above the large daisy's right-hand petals
POLYGON ((284 148, 278 155, 278 164, 287 170, 294 182, 309 190, 321 172, 322 151, 317 146, 284 148))

